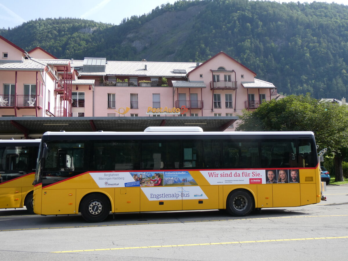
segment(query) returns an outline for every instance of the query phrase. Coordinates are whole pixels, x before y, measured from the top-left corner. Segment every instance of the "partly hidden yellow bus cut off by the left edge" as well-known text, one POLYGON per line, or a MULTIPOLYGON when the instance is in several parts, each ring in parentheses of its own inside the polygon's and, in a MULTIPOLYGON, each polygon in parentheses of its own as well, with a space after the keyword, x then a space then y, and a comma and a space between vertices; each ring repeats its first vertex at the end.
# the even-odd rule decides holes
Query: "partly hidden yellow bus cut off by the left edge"
POLYGON ((33 181, 40 140, 0 140, 0 208, 33 213, 33 181))

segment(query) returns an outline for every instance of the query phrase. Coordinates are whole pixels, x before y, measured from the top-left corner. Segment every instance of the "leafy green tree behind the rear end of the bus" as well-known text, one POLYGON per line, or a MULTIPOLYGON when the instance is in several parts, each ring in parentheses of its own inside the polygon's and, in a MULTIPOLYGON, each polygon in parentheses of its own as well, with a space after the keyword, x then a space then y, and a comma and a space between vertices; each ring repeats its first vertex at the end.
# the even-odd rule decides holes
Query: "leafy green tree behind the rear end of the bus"
POLYGON ((312 131, 319 148, 334 155, 335 181, 343 181, 342 160, 348 150, 348 109, 337 103, 319 102, 307 95, 271 100, 253 112, 244 111, 236 130, 312 131))

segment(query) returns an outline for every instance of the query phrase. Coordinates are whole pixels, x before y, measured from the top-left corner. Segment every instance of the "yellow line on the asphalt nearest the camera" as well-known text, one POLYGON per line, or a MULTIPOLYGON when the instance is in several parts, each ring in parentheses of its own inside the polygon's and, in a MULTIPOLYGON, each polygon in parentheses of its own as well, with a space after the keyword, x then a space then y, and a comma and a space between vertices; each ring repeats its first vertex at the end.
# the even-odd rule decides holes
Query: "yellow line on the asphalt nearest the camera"
POLYGON ((167 245, 167 246, 133 246, 133 247, 117 247, 117 248, 101 248, 87 250, 70 250, 70 251, 55 251, 50 253, 72 253, 86 251, 105 251, 105 250, 121 250, 121 249, 136 249, 136 248, 160 248, 160 247, 178 247, 178 246, 206 246, 206 245, 226 245, 226 244, 244 244, 244 243, 263 243, 263 242, 279 242, 279 241, 297 241, 297 240, 314 240, 314 239, 338 239, 344 237, 309 237, 309 238, 291 238, 291 239, 270 239, 270 240, 251 240, 251 241, 236 241, 236 242, 221 242, 221 243, 201 243, 201 244, 183 244, 183 245, 167 245))

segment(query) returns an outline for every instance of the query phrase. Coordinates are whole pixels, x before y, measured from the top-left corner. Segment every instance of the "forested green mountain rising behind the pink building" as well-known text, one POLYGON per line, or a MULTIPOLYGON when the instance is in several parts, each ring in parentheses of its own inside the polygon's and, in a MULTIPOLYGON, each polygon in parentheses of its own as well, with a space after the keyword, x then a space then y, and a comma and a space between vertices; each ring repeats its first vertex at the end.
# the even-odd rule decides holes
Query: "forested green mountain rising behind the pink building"
POLYGON ((0 34, 59 58, 202 62, 224 51, 280 93, 348 96, 348 6, 335 3, 177 1, 115 26, 37 19, 0 34))

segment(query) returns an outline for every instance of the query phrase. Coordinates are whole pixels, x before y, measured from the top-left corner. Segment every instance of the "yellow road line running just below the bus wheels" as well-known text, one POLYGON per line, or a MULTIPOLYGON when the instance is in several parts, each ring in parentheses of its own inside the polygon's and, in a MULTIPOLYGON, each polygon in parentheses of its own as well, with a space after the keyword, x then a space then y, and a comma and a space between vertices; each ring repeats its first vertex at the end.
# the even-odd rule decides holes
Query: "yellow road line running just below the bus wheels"
POLYGON ((220 219, 220 220, 195 220, 195 221, 173 221, 173 222, 153 222, 153 223, 127 223, 127 224, 110 224, 110 225, 91 225, 76 227, 52 227, 52 228, 17 228, 2 229, 2 231, 19 231, 19 230, 39 230, 39 229, 58 229, 58 228, 92 228, 92 227, 114 227, 114 226, 135 226, 135 225, 153 225, 153 224, 175 224, 175 223, 195 223, 195 222, 217 222, 217 221, 238 221, 238 220, 255 220, 255 219, 292 219, 292 218, 309 218, 309 217, 330 217, 330 216, 348 216, 348 215, 320 215, 320 216, 280 216, 280 217, 252 217, 247 219, 220 219))

